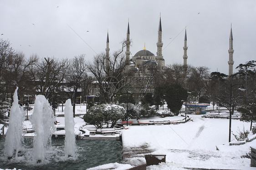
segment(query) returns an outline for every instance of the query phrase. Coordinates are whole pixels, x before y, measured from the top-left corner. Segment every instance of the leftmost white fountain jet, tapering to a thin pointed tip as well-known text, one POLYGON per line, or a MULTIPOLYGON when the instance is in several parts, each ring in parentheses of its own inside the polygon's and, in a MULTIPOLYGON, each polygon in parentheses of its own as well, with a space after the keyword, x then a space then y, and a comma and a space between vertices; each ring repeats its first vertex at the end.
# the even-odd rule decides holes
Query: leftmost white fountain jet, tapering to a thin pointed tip
POLYGON ((21 143, 23 142, 23 120, 25 119, 25 113, 23 107, 20 108, 18 95, 18 87, 16 88, 13 95, 13 103, 10 108, 10 118, 9 127, 5 136, 5 156, 11 159, 15 152, 15 157, 17 157, 18 152, 21 148, 21 143))

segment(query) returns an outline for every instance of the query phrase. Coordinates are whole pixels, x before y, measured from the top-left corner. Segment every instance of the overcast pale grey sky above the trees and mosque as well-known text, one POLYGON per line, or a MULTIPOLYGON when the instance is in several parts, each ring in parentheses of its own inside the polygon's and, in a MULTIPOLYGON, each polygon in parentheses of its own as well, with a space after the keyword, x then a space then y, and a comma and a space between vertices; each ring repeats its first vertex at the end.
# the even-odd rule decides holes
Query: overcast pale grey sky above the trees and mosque
POLYGON ((0 0, 0 38, 26 57, 92 60, 107 31, 110 53, 121 48, 129 19, 131 57, 144 43, 156 55, 160 12, 165 65, 183 63, 186 26, 188 64, 228 75, 231 23, 233 71, 256 60, 256 0, 0 0))

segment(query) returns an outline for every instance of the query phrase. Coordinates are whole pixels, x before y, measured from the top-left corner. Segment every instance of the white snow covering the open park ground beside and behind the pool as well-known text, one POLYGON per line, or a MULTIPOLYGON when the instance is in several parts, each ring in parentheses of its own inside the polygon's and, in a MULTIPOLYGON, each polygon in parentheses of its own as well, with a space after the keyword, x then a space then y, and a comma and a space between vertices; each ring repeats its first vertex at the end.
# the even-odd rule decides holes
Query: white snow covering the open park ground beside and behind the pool
MULTIPOLYGON (((210 108, 208 108, 210 109, 210 108)), ((76 114, 85 114, 86 106, 77 105, 76 114)), ((29 111, 29 115, 32 110, 29 111)), ((64 125, 64 117, 56 112, 56 120, 64 125)), ((123 148, 133 148, 142 145, 148 145, 152 154, 166 155, 166 163, 151 165, 147 170, 183 170, 188 168, 219 168, 232 170, 251 170, 250 159, 241 158, 241 156, 250 153, 250 146, 256 146, 256 141, 248 142, 245 145, 229 146, 229 120, 228 119, 210 119, 202 118, 200 115, 189 115, 193 121, 178 125, 141 125, 129 126, 122 130, 123 148), (225 145, 224 145, 225 144, 225 145), (216 146, 220 150, 216 150, 216 146)), ((150 120, 181 120, 184 117, 174 116, 159 118, 153 117, 150 120)), ((81 117, 75 119, 75 129, 78 129, 85 122, 81 117)), ((143 120, 143 119, 142 119, 143 120)), ((27 128, 31 125, 25 121, 27 128)), ((237 134, 240 130, 249 130, 250 123, 232 120, 232 132, 237 134)), ((235 140, 231 135, 231 140, 235 140)), ((108 164, 104 167, 116 167, 116 170, 122 170, 121 165, 108 164)), ((123 166, 123 165, 122 165, 123 166)), ((125 167, 125 166, 124 166, 125 167)), ((94 168, 96 170, 97 168, 94 168)), ((98 167, 100 169, 100 167, 98 167)), ((102 170, 103 170, 102 169, 102 170)))

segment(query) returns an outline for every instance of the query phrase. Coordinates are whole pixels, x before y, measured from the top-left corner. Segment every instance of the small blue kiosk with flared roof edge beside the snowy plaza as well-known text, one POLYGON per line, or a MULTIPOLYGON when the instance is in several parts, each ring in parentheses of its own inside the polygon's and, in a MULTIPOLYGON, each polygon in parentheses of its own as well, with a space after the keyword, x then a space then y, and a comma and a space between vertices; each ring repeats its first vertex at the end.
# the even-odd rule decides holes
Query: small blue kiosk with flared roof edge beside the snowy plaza
POLYGON ((204 115, 207 112, 208 103, 187 103, 183 104, 187 107, 187 114, 204 115))

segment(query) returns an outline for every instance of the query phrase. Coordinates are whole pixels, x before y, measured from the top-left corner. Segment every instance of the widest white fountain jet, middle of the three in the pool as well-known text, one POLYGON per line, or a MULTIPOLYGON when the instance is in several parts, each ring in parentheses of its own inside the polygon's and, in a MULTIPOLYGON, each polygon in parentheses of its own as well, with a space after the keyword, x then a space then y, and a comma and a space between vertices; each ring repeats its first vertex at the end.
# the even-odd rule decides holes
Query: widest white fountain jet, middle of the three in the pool
POLYGON ((45 159, 46 148, 51 146, 52 132, 56 129, 52 109, 44 95, 37 95, 30 121, 35 129, 33 140, 33 160, 41 163, 45 159))

